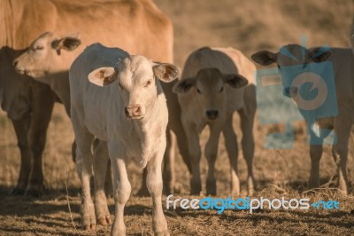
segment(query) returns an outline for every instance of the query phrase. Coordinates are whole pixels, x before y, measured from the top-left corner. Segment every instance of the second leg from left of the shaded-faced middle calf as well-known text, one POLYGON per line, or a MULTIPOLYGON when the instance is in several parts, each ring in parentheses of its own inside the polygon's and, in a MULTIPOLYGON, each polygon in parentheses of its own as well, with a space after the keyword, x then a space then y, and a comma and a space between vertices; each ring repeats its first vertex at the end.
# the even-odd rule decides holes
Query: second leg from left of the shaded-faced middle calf
POLYGON ((215 161, 218 156, 218 146, 221 127, 218 123, 210 125, 210 136, 205 145, 205 156, 208 161, 206 176, 206 194, 216 195, 215 161))

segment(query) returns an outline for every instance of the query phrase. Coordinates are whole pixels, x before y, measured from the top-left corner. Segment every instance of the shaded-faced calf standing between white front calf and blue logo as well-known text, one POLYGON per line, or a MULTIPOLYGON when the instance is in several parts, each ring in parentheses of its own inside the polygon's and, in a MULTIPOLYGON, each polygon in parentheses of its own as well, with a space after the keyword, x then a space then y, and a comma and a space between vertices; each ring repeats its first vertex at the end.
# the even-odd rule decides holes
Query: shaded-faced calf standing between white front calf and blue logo
POLYGON ((192 164, 191 194, 199 194, 201 191, 199 170, 201 150, 198 133, 205 125, 210 127, 210 137, 205 146, 209 165, 206 193, 216 194, 214 165, 218 154, 219 135, 222 131, 231 165, 231 193, 240 194, 240 180, 237 174, 238 148, 233 129, 235 111, 241 118, 242 151, 247 162, 248 191, 250 194, 253 193, 252 130, 257 106, 253 83, 255 71, 256 67, 250 59, 233 48, 205 47, 194 51, 187 59, 181 81, 173 86, 173 91, 178 93, 182 110, 181 120, 189 141, 192 164))

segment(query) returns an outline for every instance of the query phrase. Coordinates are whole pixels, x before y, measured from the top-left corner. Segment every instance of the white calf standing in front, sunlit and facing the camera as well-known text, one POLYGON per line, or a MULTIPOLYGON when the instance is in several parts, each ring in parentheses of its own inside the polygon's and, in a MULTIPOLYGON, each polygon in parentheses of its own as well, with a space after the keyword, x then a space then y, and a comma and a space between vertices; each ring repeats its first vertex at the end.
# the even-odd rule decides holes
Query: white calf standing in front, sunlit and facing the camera
MULTIPOLYGON (((90 45, 73 61, 69 71, 71 114, 84 225, 96 224, 89 193, 91 144, 96 137, 107 142, 112 161, 116 203, 112 234, 126 233, 123 212, 131 192, 127 178, 127 163, 131 159, 140 168, 148 169, 147 187, 153 200, 155 234, 169 234, 161 205, 161 162, 168 112, 159 80, 171 82, 179 73, 180 69, 171 64, 155 64, 142 56, 129 56, 126 51, 99 43, 90 45)), ((103 207, 96 211, 107 213, 107 205, 103 203, 96 204, 103 207)))

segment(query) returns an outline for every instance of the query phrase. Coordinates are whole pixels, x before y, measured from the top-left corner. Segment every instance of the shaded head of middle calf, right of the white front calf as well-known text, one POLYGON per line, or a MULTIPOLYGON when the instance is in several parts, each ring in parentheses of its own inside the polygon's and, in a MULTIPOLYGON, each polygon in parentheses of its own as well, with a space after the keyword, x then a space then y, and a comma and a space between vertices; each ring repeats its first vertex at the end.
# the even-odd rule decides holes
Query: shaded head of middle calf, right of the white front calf
POLYGON ((239 89, 247 85, 248 81, 242 75, 226 75, 218 68, 204 68, 199 70, 196 76, 176 83, 173 92, 186 93, 190 90, 195 93, 194 96, 202 106, 204 116, 208 120, 215 120, 226 108, 226 84, 231 88, 239 89))

